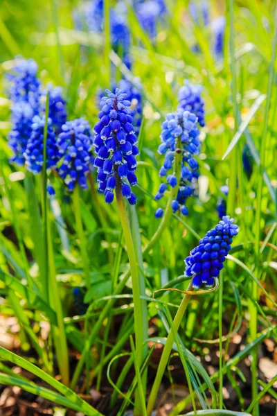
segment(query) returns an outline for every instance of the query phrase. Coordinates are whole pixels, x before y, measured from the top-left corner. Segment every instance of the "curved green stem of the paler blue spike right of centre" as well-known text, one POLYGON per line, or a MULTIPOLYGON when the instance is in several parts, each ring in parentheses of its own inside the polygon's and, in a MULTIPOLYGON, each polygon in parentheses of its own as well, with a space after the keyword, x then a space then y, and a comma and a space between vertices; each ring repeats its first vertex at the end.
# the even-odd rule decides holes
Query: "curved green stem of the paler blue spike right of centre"
POLYGON ((175 176, 177 177, 177 185, 174 188, 171 188, 170 196, 168 198, 168 203, 166 205, 166 212, 163 214, 163 218, 161 219, 161 223, 159 225, 159 228, 157 229, 157 232, 155 232, 154 236, 152 236, 152 239, 148 243, 148 245, 145 245, 145 248, 143 249, 143 254, 148 253, 153 245, 157 243, 159 238, 161 237, 161 234, 163 234, 164 230, 168 226, 169 220, 172 216, 172 206, 171 202, 172 200, 175 200, 177 198, 178 193, 178 184, 181 177, 181 162, 182 162, 182 153, 178 151, 178 148, 181 148, 181 139, 177 139, 177 150, 175 151, 175 158, 173 163, 173 172, 175 173, 175 176))

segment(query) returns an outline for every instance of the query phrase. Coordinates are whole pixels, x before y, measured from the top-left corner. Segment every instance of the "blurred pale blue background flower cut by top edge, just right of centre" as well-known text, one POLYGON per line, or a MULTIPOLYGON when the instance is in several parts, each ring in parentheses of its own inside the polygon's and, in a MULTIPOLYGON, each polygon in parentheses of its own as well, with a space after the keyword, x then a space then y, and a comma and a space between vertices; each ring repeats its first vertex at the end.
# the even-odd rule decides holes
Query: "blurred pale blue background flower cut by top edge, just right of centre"
POLYGON ((136 15, 146 33, 152 38, 157 35, 157 22, 166 13, 166 4, 163 0, 136 1, 136 15))

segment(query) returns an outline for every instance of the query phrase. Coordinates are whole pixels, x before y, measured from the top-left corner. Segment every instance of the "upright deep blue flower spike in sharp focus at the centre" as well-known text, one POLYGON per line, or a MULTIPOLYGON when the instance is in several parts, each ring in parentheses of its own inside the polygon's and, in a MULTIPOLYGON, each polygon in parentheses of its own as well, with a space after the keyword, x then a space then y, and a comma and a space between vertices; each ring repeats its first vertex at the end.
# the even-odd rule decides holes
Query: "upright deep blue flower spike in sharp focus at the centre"
POLYGON ((114 200, 116 184, 120 182, 124 198, 134 205, 136 196, 129 184, 137 184, 134 171, 139 148, 136 146, 133 118, 130 115, 131 103, 127 100, 127 94, 118 88, 115 94, 109 89, 106 89, 106 93, 107 96, 100 101, 100 121, 94 126, 96 135, 93 146, 97 155, 94 166, 98 171, 98 190, 105 194, 105 201, 110 204, 114 200))

